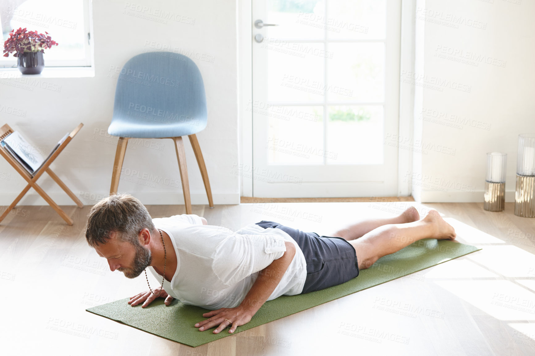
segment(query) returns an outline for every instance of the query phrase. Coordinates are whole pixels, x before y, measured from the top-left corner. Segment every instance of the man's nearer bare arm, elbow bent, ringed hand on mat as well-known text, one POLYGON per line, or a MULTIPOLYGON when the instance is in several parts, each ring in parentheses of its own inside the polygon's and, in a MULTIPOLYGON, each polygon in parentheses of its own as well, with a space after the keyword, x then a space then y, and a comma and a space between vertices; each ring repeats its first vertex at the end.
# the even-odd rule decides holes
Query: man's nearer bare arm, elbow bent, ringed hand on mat
POLYGON ((209 317, 209 319, 196 323, 195 327, 199 328, 199 331, 203 331, 219 325, 213 331, 214 334, 218 334, 229 324, 225 319, 232 322, 231 329, 228 332, 234 332, 240 325, 247 324, 271 296, 288 266, 292 263, 295 256, 295 246, 291 242, 285 242, 285 245, 286 251, 282 254, 282 257, 274 260, 271 265, 258 273, 253 287, 251 287, 239 306, 235 308, 220 308, 204 313, 203 316, 205 318, 209 317))

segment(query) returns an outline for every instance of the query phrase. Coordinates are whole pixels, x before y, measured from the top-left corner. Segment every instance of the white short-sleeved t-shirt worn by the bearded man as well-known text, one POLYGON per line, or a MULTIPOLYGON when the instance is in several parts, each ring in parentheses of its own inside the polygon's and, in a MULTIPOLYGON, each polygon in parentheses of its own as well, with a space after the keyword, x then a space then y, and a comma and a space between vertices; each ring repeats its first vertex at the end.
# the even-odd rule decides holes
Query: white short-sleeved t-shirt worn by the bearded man
MULTIPOLYGON (((307 262, 295 240, 280 229, 264 229, 253 223, 233 232, 202 225, 201 218, 193 214, 152 222, 169 235, 177 253, 177 270, 171 282, 164 281, 164 290, 184 304, 207 309, 240 305, 258 272, 282 257, 286 241, 295 245, 295 256, 268 300, 303 290, 307 262)), ((162 280, 154 268, 148 268, 158 281, 162 280)))

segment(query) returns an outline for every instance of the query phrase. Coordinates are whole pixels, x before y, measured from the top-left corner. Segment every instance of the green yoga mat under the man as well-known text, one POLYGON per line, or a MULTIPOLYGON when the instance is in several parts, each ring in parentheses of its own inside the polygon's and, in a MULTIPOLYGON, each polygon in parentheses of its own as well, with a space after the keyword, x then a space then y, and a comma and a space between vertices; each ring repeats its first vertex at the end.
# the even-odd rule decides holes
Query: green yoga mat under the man
POLYGON ((280 296, 267 301, 250 322, 236 328, 233 334, 229 334, 228 329, 219 334, 213 334, 213 329, 198 331, 194 325, 204 320, 202 314, 208 312, 208 309, 185 305, 177 299, 170 306, 165 306, 163 298, 158 298, 148 307, 141 308, 128 305, 126 302, 129 299, 125 298, 86 310, 150 334, 196 347, 478 250, 480 249, 475 246, 452 241, 417 241, 401 251, 380 258, 372 267, 361 270, 358 277, 346 283, 317 292, 280 296))

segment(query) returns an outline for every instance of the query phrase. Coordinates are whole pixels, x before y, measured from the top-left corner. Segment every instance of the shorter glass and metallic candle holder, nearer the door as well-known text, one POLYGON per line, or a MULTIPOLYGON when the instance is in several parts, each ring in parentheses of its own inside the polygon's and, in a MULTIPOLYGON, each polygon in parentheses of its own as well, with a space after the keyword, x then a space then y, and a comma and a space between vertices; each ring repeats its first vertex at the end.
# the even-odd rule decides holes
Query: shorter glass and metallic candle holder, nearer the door
POLYGON ((483 204, 485 210, 503 211, 506 173, 507 153, 487 153, 487 175, 485 177, 485 200, 483 204))

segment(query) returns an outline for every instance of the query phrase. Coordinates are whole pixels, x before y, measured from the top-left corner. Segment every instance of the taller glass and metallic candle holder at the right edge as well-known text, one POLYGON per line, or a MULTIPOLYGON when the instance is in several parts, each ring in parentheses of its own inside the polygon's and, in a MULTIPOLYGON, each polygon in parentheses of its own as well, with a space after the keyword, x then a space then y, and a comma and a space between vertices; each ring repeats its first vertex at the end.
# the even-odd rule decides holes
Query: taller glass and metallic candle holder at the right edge
POLYGON ((518 135, 515 215, 535 218, 535 134, 518 135))

